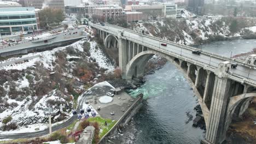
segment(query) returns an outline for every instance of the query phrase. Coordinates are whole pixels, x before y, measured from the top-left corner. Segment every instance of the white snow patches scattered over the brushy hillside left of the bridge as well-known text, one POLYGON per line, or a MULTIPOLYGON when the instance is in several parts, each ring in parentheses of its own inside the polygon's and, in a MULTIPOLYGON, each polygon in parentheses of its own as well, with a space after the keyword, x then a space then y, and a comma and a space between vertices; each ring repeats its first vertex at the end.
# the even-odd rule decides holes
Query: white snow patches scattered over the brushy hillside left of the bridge
MULTIPOLYGON (((88 41, 88 39, 83 39, 83 40, 77 41, 76 43, 73 43, 68 46, 74 47, 74 49, 76 51, 84 52, 84 50, 83 50, 84 41, 88 41)), ((95 48, 96 43, 94 41, 90 41, 90 44, 91 44, 91 49, 90 49, 91 56, 90 57, 95 58, 96 62, 98 63, 98 65, 101 68, 107 69, 108 71, 112 71, 114 69, 114 66, 107 62, 106 56, 104 56, 103 52, 100 49, 95 48)), ((30 59, 28 61, 0 67, 0 70, 1 69, 2 70, 24 70, 27 68, 34 67, 37 63, 42 63, 44 68, 48 69, 49 71, 54 71, 55 66, 53 65, 53 62, 56 59, 55 53, 58 51, 65 50, 66 47, 68 47, 68 46, 57 47, 53 50, 48 50, 48 51, 43 51, 43 52, 34 52, 34 53, 28 53, 26 55, 22 55, 22 58, 36 56, 36 55, 39 55, 39 57, 30 59)), ((88 59, 90 57, 88 57, 88 59)), ((9 58, 9 59, 6 59, 5 61, 1 61, 0 63, 13 61, 14 59, 19 59, 19 58, 20 57, 9 58)), ((79 57, 67 55, 67 58, 79 58, 79 57)), ((100 76, 100 75, 98 75, 98 76, 100 76)), ((78 79, 78 78, 75 77, 75 79, 78 79)), ((15 81, 15 83, 16 83, 17 89, 29 87, 29 85, 30 85, 30 83, 28 82, 28 79, 25 76, 21 77, 18 81, 15 81)), ((4 86, 5 91, 7 91, 7 94, 8 94, 8 92, 10 91, 9 83, 5 82, 4 85, 5 85, 4 86)), ((102 85, 102 84, 98 84, 98 85, 102 85)), ((18 129, 16 129, 16 130, 0 131, 0 133, 2 133, 2 134, 24 133, 24 132, 32 132, 32 131, 46 129, 48 127, 48 125, 47 125, 48 116, 46 115, 45 111, 48 111, 49 106, 47 104, 47 101, 49 101, 49 100, 53 100, 53 101, 57 100, 57 101, 61 102, 61 105, 59 107, 57 107, 57 108, 54 106, 52 107, 54 112, 57 112, 56 110, 60 110, 67 114, 66 118, 72 116, 71 112, 68 113, 65 111, 65 109, 63 109, 63 107, 65 107, 64 104, 66 103, 65 99, 57 97, 55 90, 51 91, 50 94, 46 94, 42 98, 40 98, 40 100, 34 105, 34 109, 32 109, 32 110, 29 110, 28 106, 32 103, 32 99, 37 98, 37 97, 32 98, 31 95, 26 95, 26 97, 27 98, 22 101, 16 101, 14 99, 10 99, 9 95, 5 96, 5 99, 8 99, 7 103, 9 103, 9 104, 16 103, 16 104, 18 104, 18 106, 14 107, 14 109, 7 109, 7 110, 1 112, 0 120, 2 121, 3 118, 11 116, 12 120, 9 123, 14 122, 14 123, 21 124, 24 126, 18 127, 18 129), (33 123, 33 124, 27 125, 28 123, 33 123), (38 128, 38 129, 35 130, 36 128, 38 128)), ((87 105, 87 104, 83 104, 84 110, 86 110, 87 107, 91 107, 91 109, 95 111, 94 107, 87 105)), ((97 115, 98 115, 98 113, 97 113, 97 115)), ((91 113, 90 113, 90 116, 91 116, 91 113)), ((57 118, 57 117, 58 117, 58 115, 55 118, 57 118)), ((57 122, 57 123, 62 123, 62 122, 64 122, 64 121, 57 122)), ((57 123, 55 123, 55 124, 57 124, 57 123)), ((0 122, 0 127, 2 125, 3 125, 3 123, 0 122)))

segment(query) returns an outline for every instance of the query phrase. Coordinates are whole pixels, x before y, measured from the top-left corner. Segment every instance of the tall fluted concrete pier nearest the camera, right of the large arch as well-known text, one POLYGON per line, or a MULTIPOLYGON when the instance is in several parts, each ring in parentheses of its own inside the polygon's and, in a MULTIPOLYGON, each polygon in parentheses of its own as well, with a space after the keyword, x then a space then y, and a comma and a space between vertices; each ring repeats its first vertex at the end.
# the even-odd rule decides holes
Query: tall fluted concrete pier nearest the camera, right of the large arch
POLYGON ((218 71, 216 72, 205 137, 207 142, 213 144, 222 143, 226 136, 225 117, 231 85, 231 81, 227 78, 227 71, 230 67, 231 64, 228 62, 219 63, 218 71))

